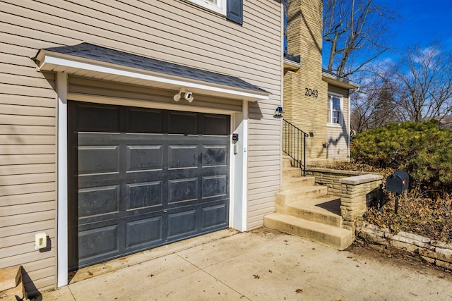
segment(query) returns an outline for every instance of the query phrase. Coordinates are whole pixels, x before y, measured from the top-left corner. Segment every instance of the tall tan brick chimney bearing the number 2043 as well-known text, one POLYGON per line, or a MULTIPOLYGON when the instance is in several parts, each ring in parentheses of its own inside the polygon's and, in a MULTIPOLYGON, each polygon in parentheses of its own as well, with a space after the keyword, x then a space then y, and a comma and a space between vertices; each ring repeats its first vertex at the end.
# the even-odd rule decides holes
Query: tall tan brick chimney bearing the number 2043
POLYGON ((302 66, 284 76, 285 119, 310 134, 307 158, 326 158, 328 85, 322 81, 322 9, 321 0, 289 2, 287 51, 300 55, 302 66), (316 97, 309 96, 309 89, 317 91, 316 97))

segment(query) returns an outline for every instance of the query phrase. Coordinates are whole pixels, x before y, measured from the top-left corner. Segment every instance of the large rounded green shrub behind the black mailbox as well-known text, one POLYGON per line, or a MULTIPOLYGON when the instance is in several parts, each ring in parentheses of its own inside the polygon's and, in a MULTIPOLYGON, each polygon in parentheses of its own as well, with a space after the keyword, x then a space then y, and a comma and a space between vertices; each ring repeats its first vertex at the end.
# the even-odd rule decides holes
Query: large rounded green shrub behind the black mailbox
POLYGON ((423 190, 452 188, 452 131, 429 123, 391 123, 355 137, 357 162, 407 171, 411 186, 423 190))

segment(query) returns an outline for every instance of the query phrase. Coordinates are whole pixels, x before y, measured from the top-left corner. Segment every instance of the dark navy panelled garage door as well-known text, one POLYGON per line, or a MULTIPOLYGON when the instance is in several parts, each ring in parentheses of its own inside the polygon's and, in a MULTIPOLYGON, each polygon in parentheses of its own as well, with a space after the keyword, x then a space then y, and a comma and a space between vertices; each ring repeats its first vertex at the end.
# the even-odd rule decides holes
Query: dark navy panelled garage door
POLYGON ((230 116, 69 102, 69 268, 228 226, 230 116))

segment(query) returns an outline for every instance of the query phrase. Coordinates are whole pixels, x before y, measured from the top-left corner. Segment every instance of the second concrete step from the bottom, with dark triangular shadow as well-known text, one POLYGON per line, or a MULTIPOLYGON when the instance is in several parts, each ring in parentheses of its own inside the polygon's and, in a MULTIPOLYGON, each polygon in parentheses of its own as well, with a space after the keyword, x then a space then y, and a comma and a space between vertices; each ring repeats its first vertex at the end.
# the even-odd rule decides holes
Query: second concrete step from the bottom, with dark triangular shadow
POLYGON ((328 226, 342 227, 340 199, 331 195, 315 199, 303 199, 288 204, 277 204, 278 213, 295 216, 299 219, 323 223, 328 226))

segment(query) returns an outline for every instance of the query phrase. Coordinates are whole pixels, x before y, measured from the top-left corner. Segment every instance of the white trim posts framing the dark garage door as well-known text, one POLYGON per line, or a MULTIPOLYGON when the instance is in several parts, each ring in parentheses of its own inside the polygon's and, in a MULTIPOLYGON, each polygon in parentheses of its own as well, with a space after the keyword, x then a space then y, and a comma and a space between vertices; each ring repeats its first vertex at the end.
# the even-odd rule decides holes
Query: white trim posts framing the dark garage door
MULTIPOLYGON (((67 154, 67 100, 68 74, 57 72, 57 287, 68 284, 68 154, 67 154)), ((225 95, 227 97, 227 95, 225 95)), ((88 97, 89 98, 89 97, 88 97)), ((88 99, 73 99, 87 101, 88 99)), ((102 102, 97 97, 95 102, 102 102)), ((126 103, 124 103, 126 104, 126 103)), ((177 104, 155 104, 155 109, 177 109, 177 104)), ((179 109, 180 110, 180 109, 179 109)), ((230 142, 230 228, 246 231, 247 204, 247 149, 248 102, 243 100, 242 112, 206 109, 205 113, 223 113, 231 116, 231 133, 239 134, 236 145, 230 142)))

